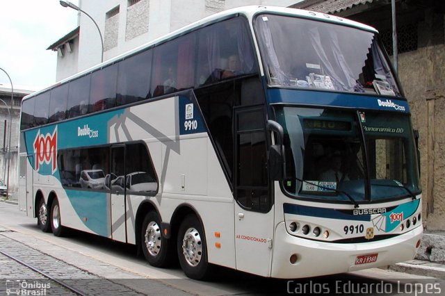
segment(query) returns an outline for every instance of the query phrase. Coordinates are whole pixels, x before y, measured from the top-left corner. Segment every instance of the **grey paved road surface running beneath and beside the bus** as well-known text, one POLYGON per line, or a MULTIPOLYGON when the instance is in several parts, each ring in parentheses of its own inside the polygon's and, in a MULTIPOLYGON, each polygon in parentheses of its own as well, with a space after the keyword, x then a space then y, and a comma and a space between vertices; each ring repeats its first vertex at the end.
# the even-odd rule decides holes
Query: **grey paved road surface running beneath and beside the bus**
MULTIPOLYGON (((441 295, 445 293, 443 279, 376 268, 291 281, 264 279, 221 268, 213 280, 195 281, 186 278, 179 267, 153 268, 142 256, 136 255, 136 247, 131 245, 79 231, 72 231, 70 236, 65 238, 57 238, 52 233, 43 233, 38 228, 36 219, 26 217, 24 213, 19 212, 18 206, 3 202, 0 203, 0 250, 15 252, 17 256, 28 254, 28 260, 39 258, 41 262, 52 262, 56 259, 54 263, 47 264, 50 265, 50 270, 59 270, 58 276, 61 278, 72 279, 80 270, 88 274, 88 276, 78 276, 81 284, 89 284, 87 278, 107 287, 118 283, 128 287, 130 294, 136 295, 441 295), (17 247, 20 245, 22 247, 17 247), (30 252, 37 253, 30 256, 30 252), (113 283, 108 283, 105 279, 113 283)), ((35 264, 42 265, 42 263, 35 264)), ((30 277, 25 272, 21 273, 22 269, 13 265, 7 258, 0 257, 0 269, 0 294, 1 288, 4 287, 1 283, 2 278, 6 281, 6 279, 30 277), (9 272, 8 269, 14 272, 9 272)), ((98 286, 100 287, 99 284, 98 286)), ((117 291, 116 293, 122 294, 117 291)), ((105 290, 99 288, 91 294, 102 295, 105 294, 105 290)))

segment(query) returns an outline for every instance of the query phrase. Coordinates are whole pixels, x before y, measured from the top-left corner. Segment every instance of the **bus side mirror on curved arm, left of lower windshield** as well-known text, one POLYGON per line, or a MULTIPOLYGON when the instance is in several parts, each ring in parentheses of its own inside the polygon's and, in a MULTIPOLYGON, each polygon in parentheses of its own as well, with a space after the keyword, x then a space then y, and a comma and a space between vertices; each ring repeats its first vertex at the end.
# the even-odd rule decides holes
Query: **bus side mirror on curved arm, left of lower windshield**
POLYGON ((277 143, 270 145, 268 153, 268 164, 270 178, 274 181, 286 179, 286 155, 284 154, 284 131, 283 127, 273 120, 267 121, 268 131, 277 135, 277 143))

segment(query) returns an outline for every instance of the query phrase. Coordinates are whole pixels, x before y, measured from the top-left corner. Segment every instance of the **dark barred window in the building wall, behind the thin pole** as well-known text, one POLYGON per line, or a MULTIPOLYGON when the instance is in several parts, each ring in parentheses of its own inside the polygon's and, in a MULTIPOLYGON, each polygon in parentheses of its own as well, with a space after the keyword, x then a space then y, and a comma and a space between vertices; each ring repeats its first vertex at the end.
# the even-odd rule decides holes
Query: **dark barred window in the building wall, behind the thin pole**
MULTIPOLYGON (((380 38, 389 56, 392 56, 392 29, 381 31, 380 38)), ((397 50, 399 54, 417 50, 417 23, 397 27, 397 50)))

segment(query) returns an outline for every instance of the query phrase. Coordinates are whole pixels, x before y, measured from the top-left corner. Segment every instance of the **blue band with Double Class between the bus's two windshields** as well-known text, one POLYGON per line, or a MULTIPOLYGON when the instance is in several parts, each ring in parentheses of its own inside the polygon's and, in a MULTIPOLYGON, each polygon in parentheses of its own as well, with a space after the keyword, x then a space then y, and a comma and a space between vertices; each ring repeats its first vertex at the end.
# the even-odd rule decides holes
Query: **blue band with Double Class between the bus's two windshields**
POLYGON ((410 113, 408 102, 396 97, 374 97, 371 95, 339 93, 316 90, 289 90, 270 88, 267 90, 269 104, 308 104, 314 106, 337 106, 410 113))

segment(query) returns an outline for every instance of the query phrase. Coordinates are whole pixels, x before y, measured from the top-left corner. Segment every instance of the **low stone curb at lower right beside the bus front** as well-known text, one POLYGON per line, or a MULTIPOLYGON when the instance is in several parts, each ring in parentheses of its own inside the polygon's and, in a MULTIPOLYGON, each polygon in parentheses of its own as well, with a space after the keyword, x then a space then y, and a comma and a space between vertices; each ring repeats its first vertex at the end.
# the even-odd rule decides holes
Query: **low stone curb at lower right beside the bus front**
POLYGON ((413 260, 405 263, 396 263, 387 266, 387 270, 415 274, 422 277, 445 279, 445 265, 431 263, 429 261, 413 260))

